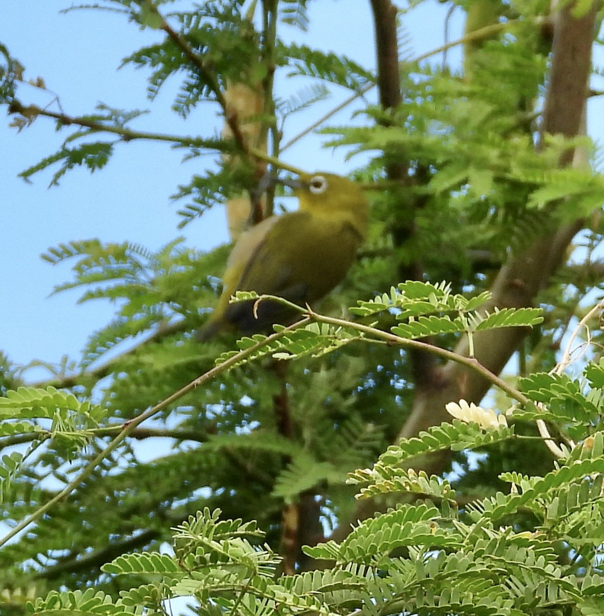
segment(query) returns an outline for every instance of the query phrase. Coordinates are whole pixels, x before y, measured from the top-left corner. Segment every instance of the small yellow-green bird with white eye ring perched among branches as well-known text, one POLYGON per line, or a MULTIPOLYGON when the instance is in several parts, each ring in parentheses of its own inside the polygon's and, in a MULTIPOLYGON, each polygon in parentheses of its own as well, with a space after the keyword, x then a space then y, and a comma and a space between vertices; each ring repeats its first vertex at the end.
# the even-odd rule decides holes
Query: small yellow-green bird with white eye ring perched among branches
POLYGON ((313 304, 343 280, 367 235, 369 208, 361 187, 332 173, 280 180, 295 188, 298 211, 271 216, 243 233, 232 249, 223 291, 208 322, 197 332, 207 340, 219 331, 270 333, 298 313, 270 300, 229 304, 235 291, 276 295, 313 304))

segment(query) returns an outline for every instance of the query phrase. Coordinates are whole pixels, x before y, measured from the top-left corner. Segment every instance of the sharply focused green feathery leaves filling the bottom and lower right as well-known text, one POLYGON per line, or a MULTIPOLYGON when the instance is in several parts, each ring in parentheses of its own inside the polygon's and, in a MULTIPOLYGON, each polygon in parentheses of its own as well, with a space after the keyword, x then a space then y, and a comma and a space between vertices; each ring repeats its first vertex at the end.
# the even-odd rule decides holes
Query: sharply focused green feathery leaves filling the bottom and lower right
MULTIPOLYGON (((222 519, 219 509, 205 508, 173 529, 171 553, 121 554, 102 565, 105 578, 131 580, 128 590, 100 590, 105 583, 51 591, 28 603, 27 612, 165 613, 167 600, 182 598, 207 616, 602 613, 604 434, 588 419, 594 400, 598 413, 602 408, 602 390, 593 385, 604 381, 604 363, 590 363, 587 373, 592 387, 584 394, 570 380, 550 391, 582 402, 584 429, 582 444, 566 447, 544 476, 504 472, 504 490, 460 505, 449 480, 409 467, 438 450, 489 450, 522 438, 508 427, 517 407, 496 421, 493 411, 475 410, 391 445, 371 468, 349 475, 348 484, 362 486, 359 498, 414 501, 357 523, 339 543, 304 548, 327 568, 279 575, 281 557, 256 522, 222 519)), ((530 389, 533 405, 544 391, 530 389)), ((27 408, 39 396, 24 391, 11 398, 27 408)))

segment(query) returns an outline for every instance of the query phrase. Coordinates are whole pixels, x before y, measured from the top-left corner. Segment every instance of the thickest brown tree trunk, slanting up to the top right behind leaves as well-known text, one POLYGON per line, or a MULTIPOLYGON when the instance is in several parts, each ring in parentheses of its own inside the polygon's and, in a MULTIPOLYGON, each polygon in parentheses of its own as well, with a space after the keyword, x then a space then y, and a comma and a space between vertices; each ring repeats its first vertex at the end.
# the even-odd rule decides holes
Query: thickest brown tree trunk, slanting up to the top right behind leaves
MULTIPOLYGON (((573 5, 560 11, 555 20, 552 69, 545 100, 542 135, 562 134, 573 137, 581 132, 581 118, 588 91, 591 47, 594 38, 595 14, 600 2, 581 18, 572 15, 573 5)), ((540 140, 540 144, 543 139, 540 140)), ((571 163, 569 150, 560 161, 571 163)), ((552 235, 543 237, 523 254, 510 257, 502 267, 492 286, 493 307, 531 306, 537 293, 547 286, 552 274, 560 267, 566 249, 582 227, 581 220, 561 225, 552 235)), ((526 330, 504 328, 475 336, 476 359, 492 372, 499 374, 516 351, 526 330)), ((461 342, 455 351, 467 355, 467 342, 461 342)), ((401 437, 415 436, 418 432, 449 419, 444 405, 463 398, 478 403, 489 389, 489 384, 477 373, 456 363, 441 370, 438 387, 418 389, 409 421, 401 437)), ((442 460, 427 461, 423 469, 439 472, 442 460)))

